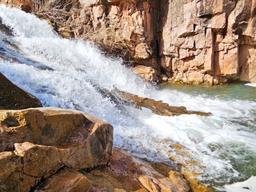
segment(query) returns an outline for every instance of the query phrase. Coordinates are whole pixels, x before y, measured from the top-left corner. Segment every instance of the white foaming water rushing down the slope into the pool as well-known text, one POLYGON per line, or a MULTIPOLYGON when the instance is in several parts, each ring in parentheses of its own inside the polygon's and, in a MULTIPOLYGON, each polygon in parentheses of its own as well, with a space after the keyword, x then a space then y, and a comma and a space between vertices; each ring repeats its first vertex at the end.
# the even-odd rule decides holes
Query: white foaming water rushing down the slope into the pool
MULTIPOLYGON (((198 178, 208 185, 223 186, 256 175, 254 87, 239 85, 236 91, 251 91, 249 99, 237 98, 236 93, 232 96, 227 92, 232 87, 219 87, 216 94, 209 94, 210 88, 156 89, 122 66, 121 59, 105 57, 89 42, 59 37, 34 15, 1 5, 0 18, 13 34, 0 28, 0 71, 44 106, 81 110, 111 123, 114 145, 137 157, 171 163, 169 158, 175 155, 183 163, 198 162, 190 169, 200 173, 198 178), (95 84, 187 110, 210 111, 212 116, 166 117, 146 109, 120 108, 102 96, 95 84), (219 90, 225 97, 218 96, 219 90), (183 154, 189 155, 171 148, 174 144, 183 145, 183 154)), ((256 187, 249 185, 252 190, 256 187)), ((218 190, 229 191, 227 186, 218 190)))

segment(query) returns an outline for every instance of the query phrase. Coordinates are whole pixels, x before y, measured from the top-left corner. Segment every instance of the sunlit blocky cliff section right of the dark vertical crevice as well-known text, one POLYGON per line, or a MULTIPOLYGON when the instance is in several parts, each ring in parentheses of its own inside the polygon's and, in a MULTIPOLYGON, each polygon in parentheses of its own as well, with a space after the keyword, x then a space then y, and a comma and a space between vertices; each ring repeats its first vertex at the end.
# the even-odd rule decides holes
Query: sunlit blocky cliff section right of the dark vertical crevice
POLYGON ((174 81, 256 81, 256 2, 172 0, 161 4, 160 64, 174 81))

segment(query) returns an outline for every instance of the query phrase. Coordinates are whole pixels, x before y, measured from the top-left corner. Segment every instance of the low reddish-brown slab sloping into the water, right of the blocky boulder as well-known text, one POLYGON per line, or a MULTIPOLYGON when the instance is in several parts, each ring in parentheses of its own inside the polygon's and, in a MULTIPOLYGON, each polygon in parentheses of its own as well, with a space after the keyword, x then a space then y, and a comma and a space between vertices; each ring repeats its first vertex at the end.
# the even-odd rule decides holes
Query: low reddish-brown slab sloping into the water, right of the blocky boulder
MULTIPOLYGON (((172 171, 170 170, 170 173, 172 171)), ((149 163, 115 148, 107 167, 84 173, 99 191, 166 191, 186 192, 189 186, 182 175, 166 177, 149 163)), ((171 174, 170 174, 171 175, 171 174)))

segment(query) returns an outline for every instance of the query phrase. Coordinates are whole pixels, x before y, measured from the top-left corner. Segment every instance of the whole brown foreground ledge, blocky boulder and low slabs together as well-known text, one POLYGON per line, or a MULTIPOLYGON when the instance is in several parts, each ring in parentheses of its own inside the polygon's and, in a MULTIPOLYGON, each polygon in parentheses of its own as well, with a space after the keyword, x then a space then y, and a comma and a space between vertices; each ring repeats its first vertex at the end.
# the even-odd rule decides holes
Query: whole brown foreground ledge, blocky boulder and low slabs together
POLYGON ((0 110, 0 141, 0 191, 190 190, 180 172, 113 149, 113 127, 79 111, 0 110))

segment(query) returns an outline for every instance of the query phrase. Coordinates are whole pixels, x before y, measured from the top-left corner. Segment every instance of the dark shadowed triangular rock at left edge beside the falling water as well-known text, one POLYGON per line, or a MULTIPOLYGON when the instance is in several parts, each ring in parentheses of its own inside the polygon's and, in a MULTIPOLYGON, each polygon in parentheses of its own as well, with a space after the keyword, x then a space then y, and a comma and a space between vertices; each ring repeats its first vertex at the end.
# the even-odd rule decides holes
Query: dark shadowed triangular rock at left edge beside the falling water
POLYGON ((23 91, 0 73, 0 109, 42 107, 35 96, 23 91))

